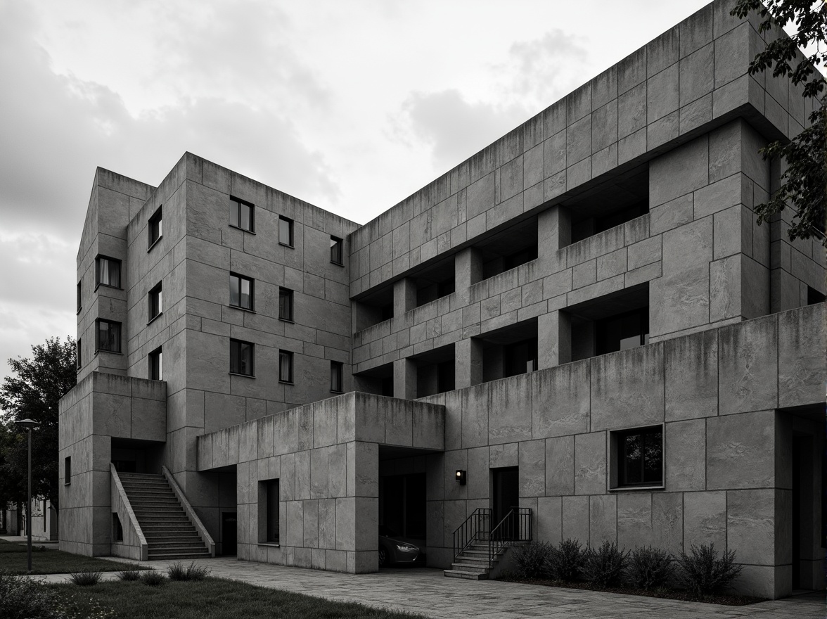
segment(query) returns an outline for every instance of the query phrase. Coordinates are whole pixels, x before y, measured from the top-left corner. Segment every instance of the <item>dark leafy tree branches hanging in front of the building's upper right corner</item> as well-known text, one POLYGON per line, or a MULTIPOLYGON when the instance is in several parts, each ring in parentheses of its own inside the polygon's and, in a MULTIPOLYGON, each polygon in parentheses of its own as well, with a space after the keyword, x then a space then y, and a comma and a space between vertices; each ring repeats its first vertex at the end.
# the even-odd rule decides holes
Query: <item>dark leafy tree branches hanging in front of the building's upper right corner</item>
POLYGON ((759 32, 781 31, 788 23, 796 33, 778 36, 755 56, 749 65, 754 75, 772 69, 773 77, 789 77, 793 84, 804 84, 803 96, 817 103, 805 127, 790 141, 777 141, 762 148, 764 159, 783 160, 782 185, 765 204, 759 204, 758 223, 790 207, 794 213, 788 231, 791 240, 815 236, 827 247, 825 203, 827 203, 827 108, 822 94, 825 78, 819 67, 827 65, 827 7, 825 0, 738 0, 731 14, 747 17, 756 12, 759 32), (766 6, 765 6, 766 5, 766 6), (801 57, 801 50, 811 50, 801 57), (797 59, 797 60, 796 60, 797 59))

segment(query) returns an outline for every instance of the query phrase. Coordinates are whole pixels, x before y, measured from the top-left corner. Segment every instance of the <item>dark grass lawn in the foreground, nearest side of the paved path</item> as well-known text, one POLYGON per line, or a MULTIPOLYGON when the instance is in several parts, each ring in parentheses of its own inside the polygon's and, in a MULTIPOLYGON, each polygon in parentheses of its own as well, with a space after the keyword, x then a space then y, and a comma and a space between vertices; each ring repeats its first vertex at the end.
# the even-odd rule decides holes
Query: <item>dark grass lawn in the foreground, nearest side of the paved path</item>
POLYGON ((198 581, 167 581, 156 587, 141 582, 113 581, 92 587, 72 584, 51 585, 61 595, 91 597, 103 608, 113 608, 117 619, 304 619, 345 617, 346 619, 411 619, 422 617, 405 612, 385 611, 351 602, 331 602, 321 597, 254 587, 221 578, 198 581))

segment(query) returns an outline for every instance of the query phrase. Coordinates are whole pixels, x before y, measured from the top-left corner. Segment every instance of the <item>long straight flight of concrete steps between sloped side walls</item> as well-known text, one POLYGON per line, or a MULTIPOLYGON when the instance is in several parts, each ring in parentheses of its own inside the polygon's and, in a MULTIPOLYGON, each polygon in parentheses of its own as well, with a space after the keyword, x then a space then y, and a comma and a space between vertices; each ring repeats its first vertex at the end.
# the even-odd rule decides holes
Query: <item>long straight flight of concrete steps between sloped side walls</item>
POLYGON ((163 475, 118 473, 141 525, 147 559, 206 559, 210 552, 163 475))

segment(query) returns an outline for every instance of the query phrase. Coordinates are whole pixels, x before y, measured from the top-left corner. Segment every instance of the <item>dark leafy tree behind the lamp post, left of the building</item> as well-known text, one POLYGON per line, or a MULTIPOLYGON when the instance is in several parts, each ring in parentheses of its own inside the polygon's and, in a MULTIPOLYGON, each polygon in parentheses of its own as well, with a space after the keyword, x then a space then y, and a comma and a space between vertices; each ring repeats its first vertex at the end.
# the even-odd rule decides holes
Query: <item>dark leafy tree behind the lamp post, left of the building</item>
POLYGON ((26 433, 15 420, 33 419, 40 428, 31 434, 31 492, 58 506, 58 401, 77 382, 74 339, 49 338, 31 347, 31 359, 9 359, 16 376, 0 386, 0 503, 25 500, 28 467, 26 433), (5 493, 5 494, 3 494, 5 493))

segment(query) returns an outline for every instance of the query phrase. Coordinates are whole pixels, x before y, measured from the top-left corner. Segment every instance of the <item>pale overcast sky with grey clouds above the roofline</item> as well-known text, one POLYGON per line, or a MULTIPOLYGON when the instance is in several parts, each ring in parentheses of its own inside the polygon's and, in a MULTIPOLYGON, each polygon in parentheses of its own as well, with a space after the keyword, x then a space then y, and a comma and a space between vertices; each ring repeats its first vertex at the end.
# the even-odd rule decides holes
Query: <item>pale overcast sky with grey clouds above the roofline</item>
POLYGON ((705 0, 0 0, 0 372, 76 335, 96 166, 191 151, 365 223, 705 0))

